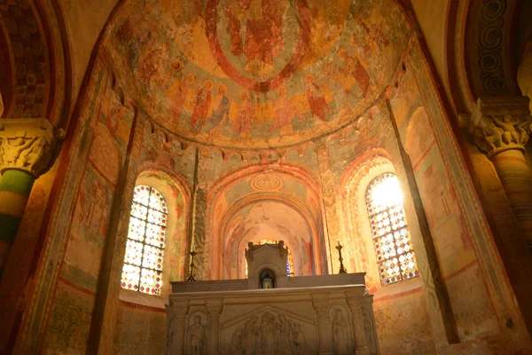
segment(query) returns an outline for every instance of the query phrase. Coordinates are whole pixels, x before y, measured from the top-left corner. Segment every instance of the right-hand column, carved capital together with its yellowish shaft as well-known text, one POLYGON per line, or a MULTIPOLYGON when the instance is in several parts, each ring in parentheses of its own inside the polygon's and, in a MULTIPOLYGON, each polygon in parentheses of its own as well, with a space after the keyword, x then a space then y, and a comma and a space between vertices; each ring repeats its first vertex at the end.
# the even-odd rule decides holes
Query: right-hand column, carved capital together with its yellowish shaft
POLYGON ((527 97, 482 98, 469 122, 477 146, 493 162, 521 232, 532 248, 532 170, 525 145, 532 117, 527 97))

